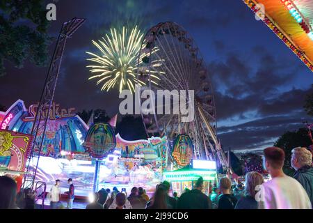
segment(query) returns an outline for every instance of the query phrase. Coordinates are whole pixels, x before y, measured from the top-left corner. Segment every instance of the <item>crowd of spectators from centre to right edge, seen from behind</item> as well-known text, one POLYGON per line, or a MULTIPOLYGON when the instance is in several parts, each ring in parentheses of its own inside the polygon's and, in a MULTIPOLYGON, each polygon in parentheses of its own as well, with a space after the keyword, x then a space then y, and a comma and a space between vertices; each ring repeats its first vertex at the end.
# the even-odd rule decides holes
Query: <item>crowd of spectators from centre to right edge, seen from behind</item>
POLYGON ((142 187, 133 187, 129 197, 118 192, 101 206, 94 201, 87 208, 112 208, 113 205, 113 208, 120 209, 311 209, 312 153, 307 148, 294 148, 291 157, 291 166, 296 170, 294 178, 284 174, 284 159, 282 148, 270 147, 264 150, 264 169, 271 176, 267 182, 262 174, 255 171, 246 174, 245 185, 232 185, 232 181, 224 177, 220 178, 218 187, 213 187, 207 196, 202 192, 203 178, 200 177, 193 190, 186 188, 180 197, 177 192, 173 192, 170 197, 170 183, 163 181, 157 185, 151 199, 148 199, 142 187))

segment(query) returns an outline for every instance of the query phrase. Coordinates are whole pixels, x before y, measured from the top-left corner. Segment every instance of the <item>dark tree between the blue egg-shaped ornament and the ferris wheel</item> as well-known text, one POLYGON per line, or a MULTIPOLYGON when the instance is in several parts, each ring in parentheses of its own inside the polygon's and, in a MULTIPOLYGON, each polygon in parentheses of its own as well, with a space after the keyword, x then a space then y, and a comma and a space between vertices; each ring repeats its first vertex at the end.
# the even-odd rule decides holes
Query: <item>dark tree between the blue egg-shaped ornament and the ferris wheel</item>
POLYGON ((120 136, 126 140, 147 139, 143 120, 140 116, 123 116, 116 125, 115 133, 120 133, 120 136))

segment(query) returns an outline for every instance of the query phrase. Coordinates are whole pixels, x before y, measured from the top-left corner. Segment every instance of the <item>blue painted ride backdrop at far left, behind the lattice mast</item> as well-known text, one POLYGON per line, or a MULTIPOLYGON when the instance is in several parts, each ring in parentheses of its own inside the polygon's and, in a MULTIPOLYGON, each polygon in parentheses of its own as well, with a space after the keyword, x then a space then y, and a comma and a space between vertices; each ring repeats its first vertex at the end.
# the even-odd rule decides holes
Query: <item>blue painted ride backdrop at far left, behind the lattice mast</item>
MULTIPOLYGON (((31 134, 37 109, 38 104, 26 109, 24 102, 17 100, 6 112, 0 112, 0 128, 31 134)), ((40 155, 61 157, 63 152, 85 153, 83 142, 87 131, 88 126, 74 113, 74 108, 65 109, 53 102, 40 155)), ((38 132, 38 140, 42 137, 42 132, 38 132)))

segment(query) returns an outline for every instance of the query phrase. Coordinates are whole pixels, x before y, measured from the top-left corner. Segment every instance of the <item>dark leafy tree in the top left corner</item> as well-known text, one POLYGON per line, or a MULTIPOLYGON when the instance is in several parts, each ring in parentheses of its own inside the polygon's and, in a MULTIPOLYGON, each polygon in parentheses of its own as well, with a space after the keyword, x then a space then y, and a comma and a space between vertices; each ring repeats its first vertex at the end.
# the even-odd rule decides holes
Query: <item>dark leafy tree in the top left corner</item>
POLYGON ((22 68, 25 59, 36 66, 49 61, 47 11, 43 0, 0 0, 0 76, 5 75, 4 61, 22 68))

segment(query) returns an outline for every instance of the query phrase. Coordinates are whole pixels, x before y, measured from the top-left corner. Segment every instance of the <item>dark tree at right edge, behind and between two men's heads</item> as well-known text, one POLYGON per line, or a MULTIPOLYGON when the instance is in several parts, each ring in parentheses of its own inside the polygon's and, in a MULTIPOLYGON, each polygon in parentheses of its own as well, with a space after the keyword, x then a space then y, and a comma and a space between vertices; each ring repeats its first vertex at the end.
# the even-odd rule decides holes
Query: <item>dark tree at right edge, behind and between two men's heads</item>
POLYGON ((307 128, 299 128, 294 132, 285 132, 281 137, 275 141, 274 146, 280 147, 284 150, 284 173, 293 176, 294 169, 291 167, 291 150, 298 146, 309 147, 312 144, 310 137, 308 136, 307 128))

